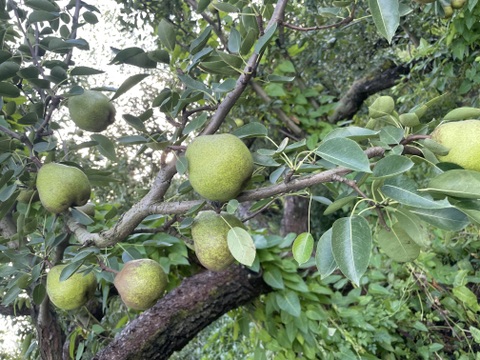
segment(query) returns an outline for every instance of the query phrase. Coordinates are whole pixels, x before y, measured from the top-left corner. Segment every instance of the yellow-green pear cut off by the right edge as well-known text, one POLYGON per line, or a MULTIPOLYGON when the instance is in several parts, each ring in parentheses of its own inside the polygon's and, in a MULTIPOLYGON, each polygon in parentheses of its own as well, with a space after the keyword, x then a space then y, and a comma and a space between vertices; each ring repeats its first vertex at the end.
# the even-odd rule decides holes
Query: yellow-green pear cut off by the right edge
POLYGON ((447 155, 438 155, 438 160, 480 171, 480 120, 444 123, 431 135, 433 140, 449 149, 447 155))

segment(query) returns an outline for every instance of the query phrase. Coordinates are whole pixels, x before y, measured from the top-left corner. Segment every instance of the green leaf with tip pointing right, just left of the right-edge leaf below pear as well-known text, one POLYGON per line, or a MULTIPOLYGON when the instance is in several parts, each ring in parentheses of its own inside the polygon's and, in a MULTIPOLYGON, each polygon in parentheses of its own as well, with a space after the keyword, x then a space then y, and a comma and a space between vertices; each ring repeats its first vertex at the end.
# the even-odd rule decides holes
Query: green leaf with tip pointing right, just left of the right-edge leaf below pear
POLYGON ((446 200, 435 201, 428 194, 420 194, 416 184, 406 177, 387 179, 380 188, 384 195, 400 204, 423 209, 445 209, 451 207, 446 200))

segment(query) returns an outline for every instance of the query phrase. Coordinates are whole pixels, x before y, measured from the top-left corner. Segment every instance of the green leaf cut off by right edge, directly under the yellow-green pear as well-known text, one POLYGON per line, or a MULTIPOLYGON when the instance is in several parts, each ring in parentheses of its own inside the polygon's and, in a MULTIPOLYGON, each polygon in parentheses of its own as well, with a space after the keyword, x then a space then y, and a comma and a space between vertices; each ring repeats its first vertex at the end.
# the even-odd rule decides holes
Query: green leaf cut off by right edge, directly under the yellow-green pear
POLYGON ((435 195, 453 196, 462 199, 480 199, 480 172, 453 169, 430 180, 422 189, 435 195))

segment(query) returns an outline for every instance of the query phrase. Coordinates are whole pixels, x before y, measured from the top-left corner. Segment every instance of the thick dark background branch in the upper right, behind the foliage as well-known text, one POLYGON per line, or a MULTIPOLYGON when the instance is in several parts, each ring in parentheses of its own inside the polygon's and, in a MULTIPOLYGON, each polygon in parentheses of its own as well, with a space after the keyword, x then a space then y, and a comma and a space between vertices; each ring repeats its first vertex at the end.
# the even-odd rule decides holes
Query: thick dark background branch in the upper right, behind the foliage
POLYGON ((363 102, 379 91, 396 85, 402 75, 408 74, 410 67, 406 64, 392 66, 389 69, 355 81, 340 99, 329 121, 332 123, 349 119, 360 109, 363 102))

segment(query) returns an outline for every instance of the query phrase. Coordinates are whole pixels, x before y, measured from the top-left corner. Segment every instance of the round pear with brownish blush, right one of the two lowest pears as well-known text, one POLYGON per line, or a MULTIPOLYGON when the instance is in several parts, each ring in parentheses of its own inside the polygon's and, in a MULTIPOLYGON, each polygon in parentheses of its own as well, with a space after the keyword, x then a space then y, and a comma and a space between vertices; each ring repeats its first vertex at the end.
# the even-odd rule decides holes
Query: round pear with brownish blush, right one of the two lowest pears
POLYGON ((167 275, 151 259, 131 260, 115 275, 114 285, 122 301, 134 310, 146 310, 163 296, 167 275))

